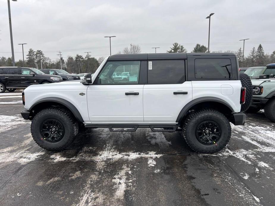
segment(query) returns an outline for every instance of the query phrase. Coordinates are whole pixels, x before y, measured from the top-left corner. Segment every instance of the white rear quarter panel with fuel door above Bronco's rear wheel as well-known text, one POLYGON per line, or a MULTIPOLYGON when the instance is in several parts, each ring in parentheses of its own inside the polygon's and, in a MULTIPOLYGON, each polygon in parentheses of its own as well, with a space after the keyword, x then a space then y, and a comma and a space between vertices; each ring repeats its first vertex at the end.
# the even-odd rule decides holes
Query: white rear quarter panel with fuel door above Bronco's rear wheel
POLYGON ((241 81, 192 81, 193 100, 200 97, 216 97, 227 102, 234 112, 241 111, 241 81), (231 95, 230 95, 231 94, 231 95))

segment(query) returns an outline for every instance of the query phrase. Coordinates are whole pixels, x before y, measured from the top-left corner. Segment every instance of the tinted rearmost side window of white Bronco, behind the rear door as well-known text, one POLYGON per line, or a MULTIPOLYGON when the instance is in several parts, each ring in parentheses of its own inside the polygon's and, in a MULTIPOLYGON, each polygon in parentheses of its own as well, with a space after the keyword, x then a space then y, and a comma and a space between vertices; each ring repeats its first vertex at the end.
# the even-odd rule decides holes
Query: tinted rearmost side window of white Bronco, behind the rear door
POLYGON ((232 77, 231 61, 227 58, 195 59, 196 79, 222 79, 232 77))

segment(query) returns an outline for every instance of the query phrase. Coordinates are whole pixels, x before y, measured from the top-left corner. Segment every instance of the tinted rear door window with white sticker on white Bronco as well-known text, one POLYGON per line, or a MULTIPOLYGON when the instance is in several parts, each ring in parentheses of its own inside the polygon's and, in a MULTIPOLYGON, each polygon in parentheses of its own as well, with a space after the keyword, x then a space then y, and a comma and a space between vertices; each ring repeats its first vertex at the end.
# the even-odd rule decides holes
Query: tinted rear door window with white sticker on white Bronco
POLYGON ((148 61, 148 84, 179 84, 184 81, 184 60, 148 61))

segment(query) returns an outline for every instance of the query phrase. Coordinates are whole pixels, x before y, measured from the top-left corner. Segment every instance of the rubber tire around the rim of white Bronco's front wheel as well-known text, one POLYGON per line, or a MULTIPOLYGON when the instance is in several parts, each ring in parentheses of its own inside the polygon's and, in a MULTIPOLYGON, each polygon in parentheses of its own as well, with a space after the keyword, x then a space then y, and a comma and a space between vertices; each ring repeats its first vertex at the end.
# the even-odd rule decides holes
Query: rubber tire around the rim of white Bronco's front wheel
POLYGON ((59 151, 68 147, 78 133, 78 122, 70 111, 60 107, 50 107, 38 112, 31 123, 31 133, 34 141, 41 148, 50 151, 59 151), (48 142, 40 134, 40 125, 47 119, 56 119, 64 127, 64 136, 58 142, 48 142))

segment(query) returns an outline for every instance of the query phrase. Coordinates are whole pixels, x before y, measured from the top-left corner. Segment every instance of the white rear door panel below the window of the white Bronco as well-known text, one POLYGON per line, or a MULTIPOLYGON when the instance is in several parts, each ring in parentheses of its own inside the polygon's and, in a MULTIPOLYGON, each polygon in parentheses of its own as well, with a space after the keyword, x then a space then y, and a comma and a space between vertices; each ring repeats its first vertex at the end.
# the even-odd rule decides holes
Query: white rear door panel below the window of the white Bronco
POLYGON ((192 83, 144 85, 144 122, 175 123, 182 108, 192 101, 192 83), (188 94, 173 94, 186 91, 188 94))

